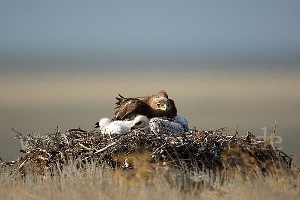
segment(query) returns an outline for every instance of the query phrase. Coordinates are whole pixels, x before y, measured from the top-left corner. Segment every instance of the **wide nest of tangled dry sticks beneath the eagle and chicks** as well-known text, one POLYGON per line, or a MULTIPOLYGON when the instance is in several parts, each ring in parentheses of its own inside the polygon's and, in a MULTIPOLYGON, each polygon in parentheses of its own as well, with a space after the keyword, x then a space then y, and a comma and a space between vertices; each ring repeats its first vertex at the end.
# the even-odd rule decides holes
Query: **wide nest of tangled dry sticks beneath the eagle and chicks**
POLYGON ((13 166, 12 174, 25 175, 32 168, 37 173, 60 171, 72 159, 79 165, 97 162, 100 166, 128 169, 139 157, 152 165, 174 166, 182 171, 238 167, 248 174, 257 169, 268 173, 294 168, 290 156, 278 150, 272 140, 258 140, 250 132, 241 137, 228 136, 223 134, 225 130, 194 130, 179 137, 143 130, 108 135, 79 128, 60 133, 58 127, 55 133, 43 136, 16 132, 15 137, 26 144, 26 150, 21 150, 25 154, 13 162, 2 161, 1 166, 13 166))

